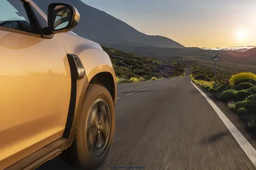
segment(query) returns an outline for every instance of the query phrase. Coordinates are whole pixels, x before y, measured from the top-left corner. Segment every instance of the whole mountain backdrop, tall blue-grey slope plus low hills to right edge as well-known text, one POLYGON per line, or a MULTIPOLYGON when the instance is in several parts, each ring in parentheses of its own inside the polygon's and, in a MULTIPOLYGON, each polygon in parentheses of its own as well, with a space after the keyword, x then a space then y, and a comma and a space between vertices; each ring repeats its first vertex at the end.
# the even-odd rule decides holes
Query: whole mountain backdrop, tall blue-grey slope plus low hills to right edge
POLYGON ((123 21, 91 6, 80 0, 33 0, 46 14, 48 5, 53 2, 69 3, 75 6, 80 13, 78 26, 73 30, 77 35, 93 40, 100 45, 123 50, 142 56, 163 58, 177 55, 196 56, 201 59, 210 59, 213 52, 221 54, 220 61, 236 64, 256 65, 256 48, 246 50, 225 48, 198 48, 184 47, 183 45, 163 36, 146 35, 139 32, 123 21))

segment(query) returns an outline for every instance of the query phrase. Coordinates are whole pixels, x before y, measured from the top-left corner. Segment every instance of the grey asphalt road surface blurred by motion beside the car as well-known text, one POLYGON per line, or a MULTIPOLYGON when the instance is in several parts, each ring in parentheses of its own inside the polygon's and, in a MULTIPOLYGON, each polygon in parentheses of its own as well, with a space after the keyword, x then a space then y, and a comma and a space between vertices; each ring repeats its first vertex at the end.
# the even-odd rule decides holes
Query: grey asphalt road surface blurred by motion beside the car
MULTIPOLYGON (((255 169, 189 72, 117 86, 114 142, 100 170, 255 169)), ((37 168, 42 169, 78 170, 58 157, 37 168)))

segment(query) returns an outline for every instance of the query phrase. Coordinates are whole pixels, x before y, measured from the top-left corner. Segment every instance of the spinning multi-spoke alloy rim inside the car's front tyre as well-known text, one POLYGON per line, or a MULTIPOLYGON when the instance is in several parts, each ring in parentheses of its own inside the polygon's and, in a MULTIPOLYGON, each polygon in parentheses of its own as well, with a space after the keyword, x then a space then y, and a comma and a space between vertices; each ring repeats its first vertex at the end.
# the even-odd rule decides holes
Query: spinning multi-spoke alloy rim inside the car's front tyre
POLYGON ((107 102, 100 98, 91 106, 87 121, 87 148, 90 154, 103 153, 110 135, 111 115, 107 102))

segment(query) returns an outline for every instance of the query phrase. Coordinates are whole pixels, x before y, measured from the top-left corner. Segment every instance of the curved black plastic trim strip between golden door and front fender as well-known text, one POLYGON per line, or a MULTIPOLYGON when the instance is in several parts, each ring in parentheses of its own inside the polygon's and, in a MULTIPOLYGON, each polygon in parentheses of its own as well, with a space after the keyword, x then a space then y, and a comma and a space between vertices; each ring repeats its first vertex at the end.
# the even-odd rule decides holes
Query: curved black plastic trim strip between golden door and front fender
POLYGON ((77 79, 78 79, 78 73, 76 69, 76 64, 73 57, 78 57, 74 54, 67 54, 67 59, 70 67, 70 74, 71 74, 71 93, 70 93, 70 102, 69 102, 69 108, 68 108, 68 114, 67 114, 67 121, 65 125, 65 130, 63 132, 62 138, 65 140, 68 140, 74 114, 75 114, 75 103, 76 103, 76 87, 77 87, 77 79))

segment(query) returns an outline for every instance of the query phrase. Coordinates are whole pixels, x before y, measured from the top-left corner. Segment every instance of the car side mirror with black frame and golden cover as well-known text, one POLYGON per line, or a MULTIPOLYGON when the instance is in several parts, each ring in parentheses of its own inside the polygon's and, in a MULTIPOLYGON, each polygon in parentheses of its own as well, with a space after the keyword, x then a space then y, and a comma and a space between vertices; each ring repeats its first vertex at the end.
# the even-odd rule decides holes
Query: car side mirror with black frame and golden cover
POLYGON ((51 3, 48 6, 48 28, 50 34, 68 32, 79 22, 80 14, 73 6, 66 3, 51 3))

